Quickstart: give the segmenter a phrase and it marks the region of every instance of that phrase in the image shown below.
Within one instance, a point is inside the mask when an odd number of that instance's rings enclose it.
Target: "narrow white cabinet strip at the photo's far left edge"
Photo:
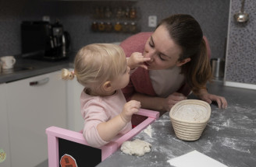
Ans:
[[[0,150],[5,154],[5,161],[0,160],[0,166],[11,166],[9,152],[9,132],[8,132],[8,116],[7,102],[5,99],[5,83],[0,84]]]

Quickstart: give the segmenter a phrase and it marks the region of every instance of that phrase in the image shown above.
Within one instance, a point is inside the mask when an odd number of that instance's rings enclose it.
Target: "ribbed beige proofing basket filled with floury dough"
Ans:
[[[172,106],[169,112],[176,137],[196,141],[201,137],[211,116],[211,106],[198,99],[186,99]]]

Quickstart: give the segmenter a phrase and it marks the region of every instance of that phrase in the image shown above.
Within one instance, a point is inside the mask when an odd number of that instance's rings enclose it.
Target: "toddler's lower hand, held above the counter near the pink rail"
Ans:
[[[137,113],[140,110],[140,102],[136,100],[130,100],[123,106],[123,111],[120,113],[120,117],[126,123],[130,122],[133,113]]]

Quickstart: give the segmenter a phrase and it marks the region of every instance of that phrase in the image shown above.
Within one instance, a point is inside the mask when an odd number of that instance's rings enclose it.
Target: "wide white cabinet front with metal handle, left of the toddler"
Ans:
[[[66,82],[60,71],[6,84],[12,167],[34,167],[48,158],[50,126],[67,126]]]

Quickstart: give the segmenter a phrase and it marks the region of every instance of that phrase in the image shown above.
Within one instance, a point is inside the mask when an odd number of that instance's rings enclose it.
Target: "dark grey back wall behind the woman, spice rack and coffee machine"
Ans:
[[[251,0],[253,1],[253,0]],[[22,20],[38,20],[42,16],[61,19],[69,31],[74,51],[88,43],[116,42],[131,34],[92,33],[91,9],[95,5],[135,5],[139,12],[141,31],[153,31],[148,27],[148,16],[158,21],[174,13],[187,13],[201,24],[204,35],[212,48],[212,57],[223,57],[228,29],[229,0],[138,0],[133,2],[88,1],[35,1],[0,0],[0,57],[20,54],[20,23]]]

